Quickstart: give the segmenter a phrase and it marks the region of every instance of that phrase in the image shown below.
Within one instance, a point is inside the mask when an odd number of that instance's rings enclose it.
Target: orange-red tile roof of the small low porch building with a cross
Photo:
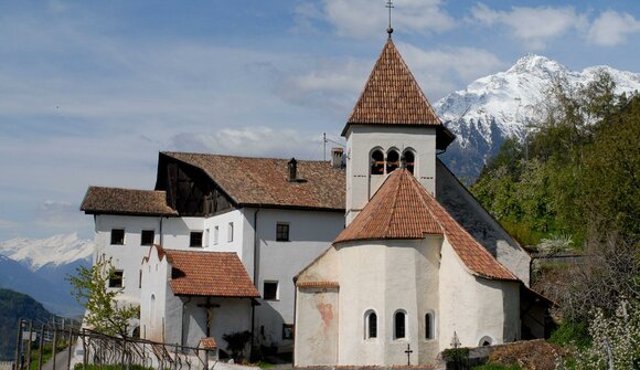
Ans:
[[[233,252],[164,250],[171,264],[171,289],[175,295],[257,298],[244,265]]]

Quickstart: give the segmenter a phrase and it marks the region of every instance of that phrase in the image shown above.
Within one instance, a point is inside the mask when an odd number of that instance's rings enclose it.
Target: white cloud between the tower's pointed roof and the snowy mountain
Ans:
[[[426,51],[405,43],[399,43],[397,47],[431,103],[504,66],[495,55],[482,49]]]

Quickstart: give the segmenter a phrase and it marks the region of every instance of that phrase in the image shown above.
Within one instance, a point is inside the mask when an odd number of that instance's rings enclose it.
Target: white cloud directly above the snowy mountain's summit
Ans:
[[[493,10],[483,3],[471,9],[471,21],[484,25],[506,25],[527,47],[542,50],[546,43],[570,30],[585,30],[586,14],[572,7],[512,7],[510,11]]]

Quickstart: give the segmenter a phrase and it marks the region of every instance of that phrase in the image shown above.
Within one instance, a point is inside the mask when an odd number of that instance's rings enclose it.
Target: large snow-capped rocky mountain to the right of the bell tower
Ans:
[[[529,54],[508,71],[478,78],[445,96],[434,108],[457,139],[442,159],[458,176],[476,178],[505,138],[524,138],[554,78],[565,77],[574,87],[586,86],[600,71],[611,75],[616,93],[640,91],[638,73],[609,66],[575,72],[545,56]]]

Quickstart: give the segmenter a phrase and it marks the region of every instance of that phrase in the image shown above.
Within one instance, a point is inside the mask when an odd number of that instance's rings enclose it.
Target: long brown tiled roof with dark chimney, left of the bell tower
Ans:
[[[161,155],[203,170],[237,204],[344,211],[344,169],[329,161],[296,160],[297,181],[289,181],[289,159],[190,152]]]

